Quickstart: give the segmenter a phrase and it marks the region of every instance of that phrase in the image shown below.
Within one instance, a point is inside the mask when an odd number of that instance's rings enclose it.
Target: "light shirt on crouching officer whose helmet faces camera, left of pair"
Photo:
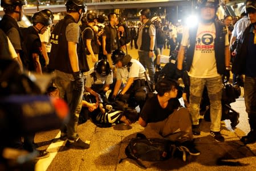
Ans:
[[[88,88],[91,88],[92,85],[94,84],[112,84],[113,83],[113,72],[111,72],[110,74],[108,74],[107,76],[100,76],[99,74],[97,74],[96,72],[96,80],[94,80],[94,77],[91,76],[91,74],[95,72],[94,68],[91,68],[91,70],[88,72],[88,76],[86,79],[86,84],[85,86]]]

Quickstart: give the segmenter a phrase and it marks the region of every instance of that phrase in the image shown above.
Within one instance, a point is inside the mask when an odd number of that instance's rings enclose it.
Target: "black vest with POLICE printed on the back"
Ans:
[[[48,65],[48,68],[52,70],[59,70],[69,74],[73,72],[68,56],[68,42],[66,39],[66,28],[70,23],[75,23],[75,19],[71,15],[66,15],[55,25],[50,37],[52,47]],[[80,71],[89,71],[86,59],[86,49],[83,46],[81,36],[79,36],[79,43],[76,51],[78,53]]]

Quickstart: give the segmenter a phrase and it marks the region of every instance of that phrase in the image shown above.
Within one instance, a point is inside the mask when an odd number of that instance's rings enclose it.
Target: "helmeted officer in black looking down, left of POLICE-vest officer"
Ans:
[[[37,12],[32,16],[32,26],[22,28],[26,52],[29,58],[29,71],[36,71],[42,74],[42,64],[45,60],[42,55],[42,44],[39,34],[43,34],[51,24],[51,18],[42,12]]]

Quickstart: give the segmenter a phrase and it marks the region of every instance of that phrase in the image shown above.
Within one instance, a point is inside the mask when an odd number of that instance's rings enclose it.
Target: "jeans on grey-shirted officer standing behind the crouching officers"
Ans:
[[[143,67],[146,69],[148,68],[149,78],[151,83],[155,80],[155,67],[153,62],[153,57],[149,58],[149,52],[146,51],[139,51],[139,60]]]

